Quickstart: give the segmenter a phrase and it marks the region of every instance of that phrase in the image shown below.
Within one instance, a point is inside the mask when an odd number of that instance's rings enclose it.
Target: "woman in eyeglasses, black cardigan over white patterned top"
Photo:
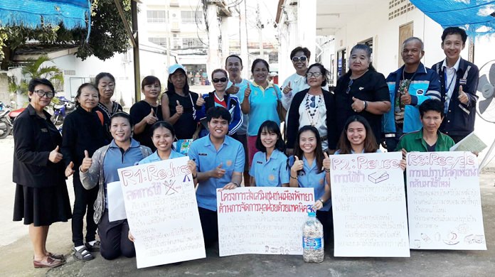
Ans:
[[[303,126],[314,126],[321,137],[321,148],[334,150],[338,135],[335,128],[334,94],[322,89],[328,82],[328,70],[319,64],[309,66],[306,73],[309,89],[297,92],[292,99],[287,119],[287,147],[294,148],[296,136]],[[289,153],[292,153],[289,149]]]

